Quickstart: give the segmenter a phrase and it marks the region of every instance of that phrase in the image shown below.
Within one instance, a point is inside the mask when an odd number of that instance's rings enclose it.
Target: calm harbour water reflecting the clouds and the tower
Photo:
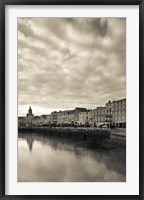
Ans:
[[[84,141],[19,133],[18,181],[124,182],[125,149],[88,149]]]

